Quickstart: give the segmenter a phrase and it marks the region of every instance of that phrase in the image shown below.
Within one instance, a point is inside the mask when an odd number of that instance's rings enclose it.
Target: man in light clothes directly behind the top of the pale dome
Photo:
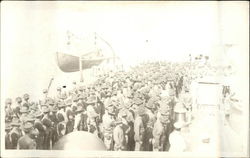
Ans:
[[[88,115],[85,109],[83,108],[82,103],[77,103],[74,131],[88,131],[87,118]]]

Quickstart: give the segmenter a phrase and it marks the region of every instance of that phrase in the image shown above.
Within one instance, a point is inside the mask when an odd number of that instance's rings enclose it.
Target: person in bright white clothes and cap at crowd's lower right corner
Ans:
[[[169,135],[170,152],[184,152],[187,148],[184,137],[181,134],[181,128],[184,126],[183,122],[174,123],[174,131]]]

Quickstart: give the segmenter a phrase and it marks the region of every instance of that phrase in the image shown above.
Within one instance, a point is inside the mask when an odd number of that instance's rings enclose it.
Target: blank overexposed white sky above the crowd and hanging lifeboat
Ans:
[[[248,2],[2,2],[1,100],[26,92],[37,99],[52,77],[52,89],[78,80],[56,63],[56,52],[86,51],[86,41],[67,47],[67,31],[82,39],[98,33],[125,65],[200,53],[220,59],[216,46],[233,43],[232,62],[246,66],[248,11]]]

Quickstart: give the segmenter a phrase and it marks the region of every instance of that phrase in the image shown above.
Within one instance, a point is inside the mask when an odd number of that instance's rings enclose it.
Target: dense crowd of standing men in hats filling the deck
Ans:
[[[189,89],[200,75],[191,71],[189,63],[148,62],[91,85],[58,87],[55,96],[44,89],[38,102],[8,98],[5,148],[50,150],[64,135],[87,131],[110,151],[185,151],[180,130],[192,120]]]

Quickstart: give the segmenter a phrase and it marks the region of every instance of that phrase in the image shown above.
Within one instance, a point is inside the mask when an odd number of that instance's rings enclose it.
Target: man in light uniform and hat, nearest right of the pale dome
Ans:
[[[115,128],[113,132],[115,151],[126,150],[126,139],[122,126],[123,126],[122,119],[118,118],[117,121],[115,122]]]

